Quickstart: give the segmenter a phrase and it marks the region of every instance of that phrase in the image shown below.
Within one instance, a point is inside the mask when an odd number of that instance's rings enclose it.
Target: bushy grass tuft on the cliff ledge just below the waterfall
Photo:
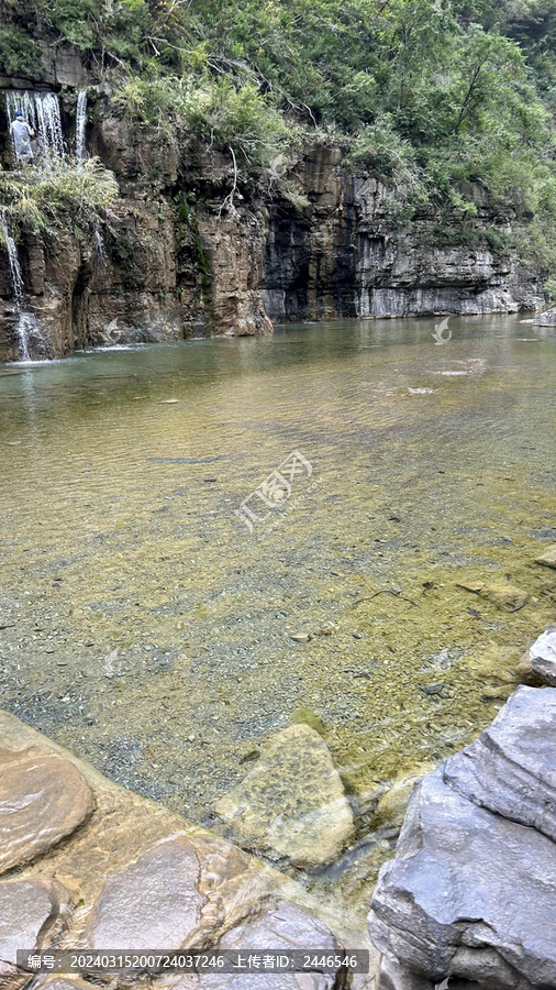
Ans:
[[[48,168],[0,172],[0,206],[15,237],[54,233],[70,221],[97,229],[118,199],[114,175],[98,158],[82,165],[54,162]]]

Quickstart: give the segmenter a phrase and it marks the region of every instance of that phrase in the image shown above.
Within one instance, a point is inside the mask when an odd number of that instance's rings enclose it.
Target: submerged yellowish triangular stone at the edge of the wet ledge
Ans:
[[[354,828],[330,751],[307,725],[278,733],[256,767],[215,809],[240,842],[271,849],[305,869],[336,859]]]

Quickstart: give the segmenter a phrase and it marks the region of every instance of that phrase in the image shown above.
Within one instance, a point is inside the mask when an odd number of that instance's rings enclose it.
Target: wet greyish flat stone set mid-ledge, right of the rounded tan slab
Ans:
[[[185,836],[158,843],[107,878],[87,923],[92,949],[178,949],[191,945],[205,899],[199,859]]]

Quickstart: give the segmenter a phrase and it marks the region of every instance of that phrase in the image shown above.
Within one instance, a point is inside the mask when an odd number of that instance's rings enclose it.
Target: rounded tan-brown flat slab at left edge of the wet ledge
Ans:
[[[91,810],[90,788],[68,760],[41,747],[0,750],[0,873],[70,835]]]

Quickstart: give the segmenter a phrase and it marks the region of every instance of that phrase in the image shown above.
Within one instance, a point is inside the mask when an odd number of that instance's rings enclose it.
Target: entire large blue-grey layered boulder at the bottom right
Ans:
[[[549,990],[555,920],[556,689],[520,686],[413,793],[368,917],[379,986]]]

